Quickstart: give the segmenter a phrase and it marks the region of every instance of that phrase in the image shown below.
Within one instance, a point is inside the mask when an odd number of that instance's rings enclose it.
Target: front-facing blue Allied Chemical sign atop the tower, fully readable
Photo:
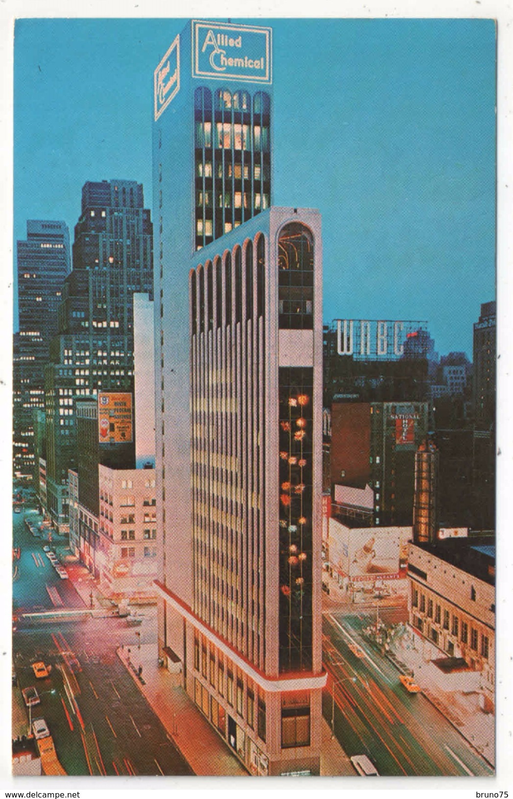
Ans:
[[[193,21],[193,78],[271,83],[271,28]]]

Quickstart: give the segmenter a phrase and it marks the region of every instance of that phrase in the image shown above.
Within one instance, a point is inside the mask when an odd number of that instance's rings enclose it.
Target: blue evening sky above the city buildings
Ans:
[[[494,23],[258,22],[273,29],[274,204],[320,209],[324,320],[427,320],[439,352],[471,357],[495,296]],[[151,208],[153,70],[184,24],[18,21],[14,240],[29,218],[73,240],[87,180],[140,181]]]

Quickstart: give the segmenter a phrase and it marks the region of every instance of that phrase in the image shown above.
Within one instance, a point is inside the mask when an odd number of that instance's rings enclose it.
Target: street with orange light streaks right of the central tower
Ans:
[[[331,725],[334,690],[334,730],[348,756],[367,754],[384,776],[493,774],[428,699],[408,694],[396,667],[370,646],[362,630],[374,622],[371,610],[323,617],[323,660],[330,673],[323,713]]]

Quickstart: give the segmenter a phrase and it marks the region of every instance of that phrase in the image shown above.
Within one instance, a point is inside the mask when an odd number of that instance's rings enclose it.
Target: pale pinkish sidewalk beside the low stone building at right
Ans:
[[[431,654],[424,654],[423,639],[408,628],[392,638],[390,654],[390,659],[400,671],[413,673],[424,696],[447,721],[451,722],[479,754],[491,765],[495,765],[495,715],[481,710],[479,692],[442,690],[433,681],[431,671],[436,667],[430,662]]]

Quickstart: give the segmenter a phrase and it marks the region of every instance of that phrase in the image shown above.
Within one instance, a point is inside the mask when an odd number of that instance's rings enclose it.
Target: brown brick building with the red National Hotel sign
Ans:
[[[332,404],[332,513],[343,523],[411,525],[415,453],[428,403]]]

